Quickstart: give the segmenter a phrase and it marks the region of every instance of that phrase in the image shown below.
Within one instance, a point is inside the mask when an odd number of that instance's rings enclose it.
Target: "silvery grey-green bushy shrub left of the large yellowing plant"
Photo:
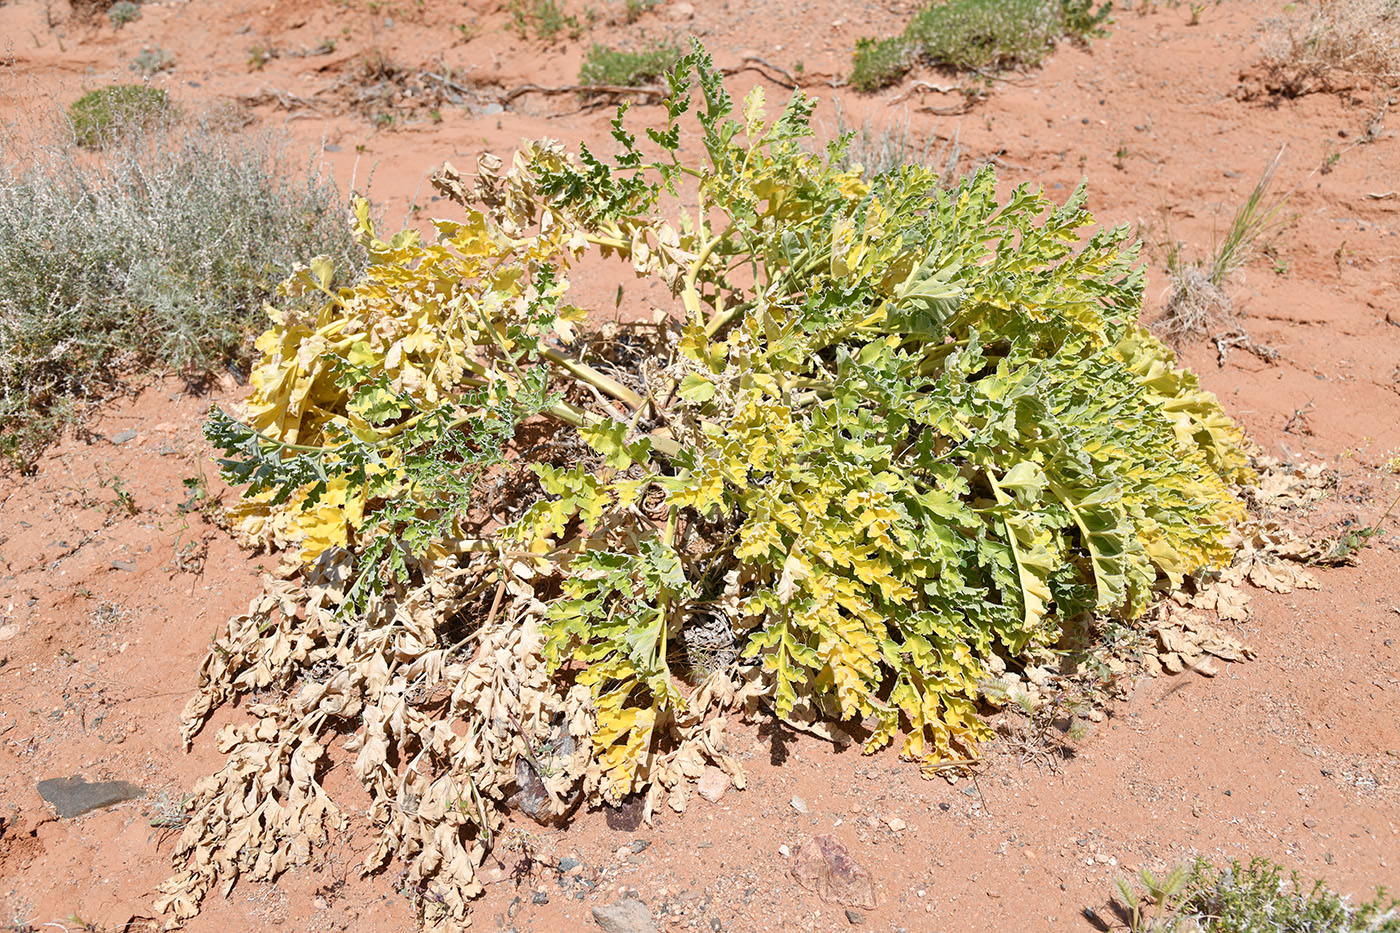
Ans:
[[[363,255],[333,184],[273,139],[97,112],[95,161],[6,132],[25,157],[0,165],[0,437],[21,465],[136,367],[239,359],[294,258],[329,251],[353,275]]]

